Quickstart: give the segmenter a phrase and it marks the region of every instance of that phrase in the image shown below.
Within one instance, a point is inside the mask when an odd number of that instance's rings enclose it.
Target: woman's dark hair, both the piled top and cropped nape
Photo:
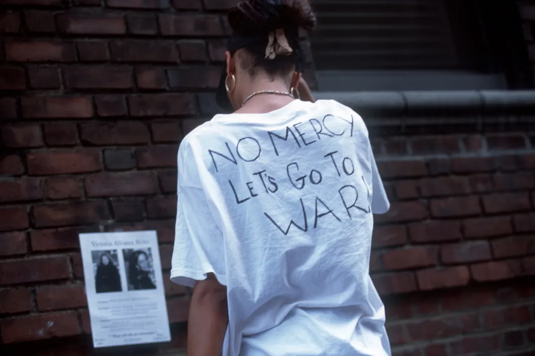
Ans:
[[[308,0],[248,0],[240,2],[228,12],[228,22],[235,33],[265,34],[278,28],[301,27],[306,30],[316,26],[316,14]],[[289,38],[288,38],[289,39]],[[290,42],[295,49],[295,44]],[[251,76],[258,68],[264,69],[273,78],[276,74],[286,75],[295,68],[297,51],[289,56],[265,58],[265,45],[249,45],[241,57],[242,68]]]

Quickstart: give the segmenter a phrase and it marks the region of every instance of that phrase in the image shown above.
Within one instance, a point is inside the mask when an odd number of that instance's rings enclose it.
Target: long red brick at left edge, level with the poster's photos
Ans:
[[[68,260],[65,256],[0,262],[0,285],[63,280],[68,277]]]

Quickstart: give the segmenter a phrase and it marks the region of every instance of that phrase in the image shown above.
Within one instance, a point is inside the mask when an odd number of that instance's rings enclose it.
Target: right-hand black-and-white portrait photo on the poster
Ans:
[[[150,247],[124,249],[124,266],[128,290],[156,289],[154,261]]]

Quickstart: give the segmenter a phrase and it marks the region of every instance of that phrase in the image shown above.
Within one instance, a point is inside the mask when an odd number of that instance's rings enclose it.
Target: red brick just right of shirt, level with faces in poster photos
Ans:
[[[438,247],[408,247],[386,252],[385,269],[408,269],[438,264]]]

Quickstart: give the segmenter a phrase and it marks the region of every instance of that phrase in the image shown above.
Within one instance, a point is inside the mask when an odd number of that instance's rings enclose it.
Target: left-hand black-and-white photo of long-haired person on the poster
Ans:
[[[95,276],[95,292],[122,291],[117,250],[91,251],[91,257],[93,259],[93,275]]]

